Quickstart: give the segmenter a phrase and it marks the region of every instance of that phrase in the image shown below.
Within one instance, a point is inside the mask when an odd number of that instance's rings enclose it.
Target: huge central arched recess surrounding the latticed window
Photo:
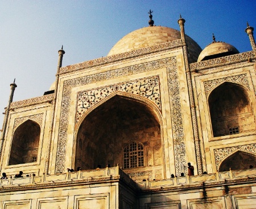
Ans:
[[[131,142],[144,147],[144,166],[163,164],[159,117],[142,101],[115,95],[81,122],[76,138],[75,167],[123,166],[123,149]]]

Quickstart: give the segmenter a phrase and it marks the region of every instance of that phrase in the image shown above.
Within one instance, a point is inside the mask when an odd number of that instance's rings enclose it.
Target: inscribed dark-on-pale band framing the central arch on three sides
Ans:
[[[78,65],[78,64],[77,64]],[[181,105],[179,97],[179,82],[177,79],[177,61],[176,57],[159,59],[156,61],[141,63],[133,66],[122,67],[119,69],[99,72],[97,74],[84,76],[66,80],[63,87],[63,98],[61,102],[60,113],[60,128],[57,143],[57,156],[55,172],[64,172],[65,155],[67,150],[67,133],[68,133],[68,115],[71,104],[71,89],[77,86],[84,86],[90,83],[100,82],[102,80],[109,80],[119,78],[140,72],[151,71],[166,67],[168,74],[169,93],[172,100],[171,115],[172,115],[172,129],[175,140],[175,165],[176,173],[181,173],[187,165],[185,160],[185,143],[184,143],[184,129],[181,118]]]

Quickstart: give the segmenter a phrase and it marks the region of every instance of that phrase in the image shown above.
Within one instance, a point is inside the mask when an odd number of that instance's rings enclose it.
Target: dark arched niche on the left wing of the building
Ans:
[[[40,126],[28,120],[14,132],[9,165],[32,163],[37,161],[40,139]]]

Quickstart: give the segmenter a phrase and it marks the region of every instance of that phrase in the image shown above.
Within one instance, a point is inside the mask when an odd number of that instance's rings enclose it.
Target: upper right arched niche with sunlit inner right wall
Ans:
[[[250,96],[239,84],[222,83],[210,93],[208,104],[213,137],[255,129]]]

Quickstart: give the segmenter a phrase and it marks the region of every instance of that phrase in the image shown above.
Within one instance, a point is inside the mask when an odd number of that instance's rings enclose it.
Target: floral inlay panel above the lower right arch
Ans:
[[[215,157],[215,162],[216,162],[216,168],[218,169],[218,166],[220,165],[221,161],[226,156],[230,155],[230,153],[233,153],[237,150],[252,152],[252,153],[256,154],[256,144],[245,144],[245,145],[241,145],[241,146],[214,149],[214,157]]]

